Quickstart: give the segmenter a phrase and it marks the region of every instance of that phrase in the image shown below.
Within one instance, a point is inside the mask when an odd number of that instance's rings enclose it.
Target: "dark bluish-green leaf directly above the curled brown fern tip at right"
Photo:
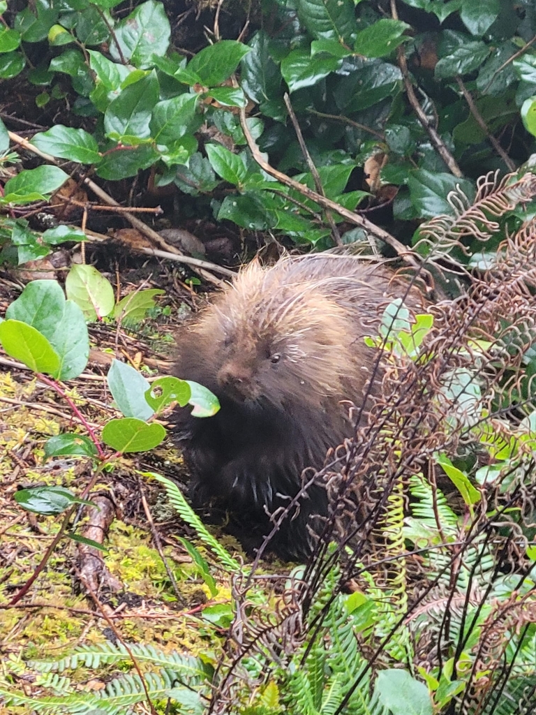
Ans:
[[[426,169],[412,172],[407,184],[412,204],[421,217],[452,215],[454,209],[447,201],[447,195],[457,186],[462,188],[470,200],[475,195],[475,188],[469,180],[442,172],[428,172]]]

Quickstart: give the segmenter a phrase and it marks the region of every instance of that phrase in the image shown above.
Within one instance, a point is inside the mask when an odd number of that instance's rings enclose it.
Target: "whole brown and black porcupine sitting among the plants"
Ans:
[[[376,334],[382,305],[405,294],[391,278],[351,256],[254,262],[179,335],[175,374],[221,404],[212,418],[177,415],[192,503],[234,515],[247,546],[272,530],[269,513],[297,495],[303,470],[322,468],[354,433],[377,357],[364,336]],[[309,487],[294,512],[270,543],[291,560],[310,553],[322,523],[314,516],[327,516],[323,486]]]

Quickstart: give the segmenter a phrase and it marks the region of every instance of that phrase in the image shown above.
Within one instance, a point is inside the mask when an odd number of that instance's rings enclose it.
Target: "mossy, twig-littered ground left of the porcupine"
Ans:
[[[117,357],[149,379],[166,374],[172,366],[174,332],[181,317],[205,300],[195,295],[178,270],[154,260],[142,269],[108,277],[121,295],[140,280],[165,294],[136,333],[106,319],[89,326],[89,364],[65,388],[97,431],[118,415],[106,384],[111,360]],[[20,290],[14,274],[4,273],[0,315],[5,315]],[[174,478],[181,487],[187,485],[182,458],[171,438],[149,453],[121,457],[113,469],[99,476],[90,498],[100,511],[94,510],[88,521],[87,511],[81,508],[79,532],[100,541],[104,551],[63,538],[53,553],[44,556],[63,516],[24,511],[14,501],[14,493],[39,485],[61,485],[81,493],[91,478],[91,459],[45,459],[44,455],[48,438],[79,430],[76,415],[54,390],[24,365],[0,353],[0,652],[4,675],[14,669],[20,676],[21,664],[29,659],[58,659],[76,646],[106,640],[199,654],[208,645],[203,623],[212,623],[222,635],[229,624],[229,574],[199,546],[217,580],[214,598],[214,590],[179,541],[179,537],[190,538],[192,530],[180,521],[162,487],[150,476],[159,473]],[[231,537],[224,536],[222,543],[243,558]],[[209,647],[214,646],[211,638]],[[104,676],[97,678],[92,687],[100,689],[104,682]],[[29,694],[34,689],[37,693],[39,682],[29,678],[25,688]],[[9,713],[15,711],[19,710]],[[7,712],[0,706],[2,715]]]

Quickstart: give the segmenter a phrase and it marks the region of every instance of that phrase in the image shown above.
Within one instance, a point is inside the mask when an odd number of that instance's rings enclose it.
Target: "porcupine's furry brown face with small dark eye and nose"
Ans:
[[[269,275],[265,273],[264,275]],[[205,326],[217,336],[217,390],[250,410],[314,407],[349,370],[342,310],[307,285],[266,286],[259,300],[227,293]]]

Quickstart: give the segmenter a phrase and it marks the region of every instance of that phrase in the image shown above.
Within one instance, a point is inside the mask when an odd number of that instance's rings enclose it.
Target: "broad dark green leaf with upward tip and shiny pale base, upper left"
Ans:
[[[158,79],[154,70],[147,77],[129,84],[104,112],[106,136],[118,142],[124,139],[125,144],[132,143],[131,137],[150,137],[149,122],[158,102],[158,94]]]

